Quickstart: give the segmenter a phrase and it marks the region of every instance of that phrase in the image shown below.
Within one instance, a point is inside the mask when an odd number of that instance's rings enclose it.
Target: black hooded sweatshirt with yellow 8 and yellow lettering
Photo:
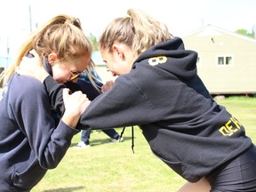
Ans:
[[[150,47],[129,74],[92,101],[79,129],[139,125],[153,153],[184,179],[196,182],[252,145],[244,126],[218,105],[196,74],[197,53],[179,37]],[[62,105],[49,76],[52,105]]]

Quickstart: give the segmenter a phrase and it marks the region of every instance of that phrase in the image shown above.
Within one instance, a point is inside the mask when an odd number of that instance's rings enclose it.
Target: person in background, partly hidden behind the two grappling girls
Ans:
[[[86,72],[81,74],[78,77],[77,82],[67,82],[65,85],[71,90],[71,92],[82,91],[89,100],[94,100],[96,97],[100,95],[100,88],[103,85],[101,83],[101,78],[98,73],[96,73],[95,69],[91,71],[92,76],[88,76]],[[91,79],[89,79],[91,77]],[[82,130],[81,141],[77,143],[75,148],[88,148],[90,147],[90,135],[92,130]],[[106,133],[108,137],[111,139],[109,142],[121,142],[124,140],[123,137],[119,135],[118,132],[114,128],[112,129],[104,129],[102,132]]]

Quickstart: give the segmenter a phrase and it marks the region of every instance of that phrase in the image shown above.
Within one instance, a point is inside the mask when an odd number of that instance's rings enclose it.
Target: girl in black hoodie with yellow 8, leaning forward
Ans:
[[[85,109],[79,128],[139,125],[152,152],[188,180],[180,192],[256,191],[256,147],[197,75],[197,52],[164,23],[129,9],[103,31],[100,53],[118,77]],[[61,105],[62,85],[48,76],[41,82]]]

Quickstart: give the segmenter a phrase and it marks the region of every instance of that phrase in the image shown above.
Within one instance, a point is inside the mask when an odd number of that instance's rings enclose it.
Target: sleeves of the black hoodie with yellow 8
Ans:
[[[54,83],[51,76],[45,79],[44,85],[52,100],[52,106],[59,108],[63,102],[58,95],[62,95],[61,88],[64,86]],[[85,109],[76,128],[108,129],[148,124],[156,122],[156,118],[152,103],[141,92],[140,87],[133,84],[128,76],[119,76],[111,90],[100,94]]]

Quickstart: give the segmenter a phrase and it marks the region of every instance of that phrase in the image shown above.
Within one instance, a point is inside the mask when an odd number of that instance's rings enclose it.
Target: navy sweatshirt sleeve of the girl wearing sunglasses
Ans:
[[[78,131],[61,120],[55,127],[44,86],[32,78],[30,81],[25,78],[20,76],[19,81],[20,85],[26,84],[26,89],[12,89],[12,93],[17,96],[12,98],[9,115],[17,121],[28,138],[29,146],[39,164],[46,169],[52,169],[60,163]]]

